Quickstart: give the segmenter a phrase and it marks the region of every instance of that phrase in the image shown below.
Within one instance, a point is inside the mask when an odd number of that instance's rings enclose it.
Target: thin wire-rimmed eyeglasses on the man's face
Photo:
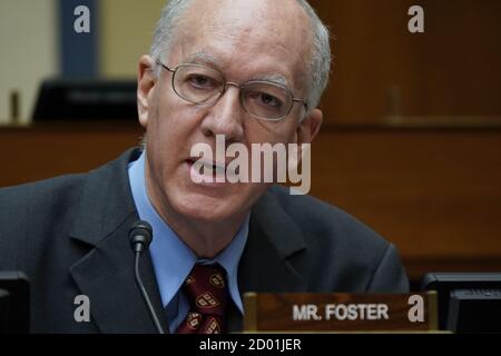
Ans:
[[[293,109],[294,102],[301,102],[305,110],[307,103],[294,98],[291,90],[281,85],[249,80],[243,85],[226,81],[218,70],[191,63],[184,63],[170,69],[157,61],[164,69],[173,73],[173,89],[186,101],[197,105],[210,105],[224,96],[229,86],[240,89],[240,105],[250,116],[269,121],[284,119]]]

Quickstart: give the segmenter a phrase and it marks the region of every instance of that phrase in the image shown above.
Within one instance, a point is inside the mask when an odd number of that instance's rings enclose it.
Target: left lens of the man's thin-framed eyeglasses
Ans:
[[[223,90],[223,76],[214,69],[183,65],[174,76],[174,90],[184,99],[204,103],[218,98]]]

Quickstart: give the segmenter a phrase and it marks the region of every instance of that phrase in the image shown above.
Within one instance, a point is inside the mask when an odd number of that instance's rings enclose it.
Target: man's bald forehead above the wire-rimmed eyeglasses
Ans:
[[[287,18],[287,9],[298,7],[297,1],[276,1],[287,8],[279,13],[267,11],[273,2],[268,0],[237,0],[235,6],[215,0],[202,4],[203,9],[194,4],[181,22],[173,65],[193,61],[226,69],[236,60],[242,68],[254,67],[258,76],[243,79],[272,80],[293,89],[303,81],[301,71],[311,56],[310,20],[305,12],[303,19]]]

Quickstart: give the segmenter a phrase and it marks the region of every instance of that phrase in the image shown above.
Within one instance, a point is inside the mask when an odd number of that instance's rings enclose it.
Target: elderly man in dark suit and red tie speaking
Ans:
[[[0,192],[0,269],[30,277],[31,329],[156,330],[134,279],[139,219],[154,236],[139,274],[166,332],[238,330],[245,291],[407,290],[395,248],[347,214],[266,181],[193,179],[193,147],[218,137],[310,144],[330,61],[306,1],[171,0],[139,61],[145,149]]]

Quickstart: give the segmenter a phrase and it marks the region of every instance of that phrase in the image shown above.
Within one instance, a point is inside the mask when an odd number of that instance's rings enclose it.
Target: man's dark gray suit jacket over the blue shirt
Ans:
[[[128,241],[138,215],[127,165],[138,154],[89,174],[0,189],[0,270],[29,276],[32,332],[155,333]],[[164,315],[148,255],[141,275]],[[252,210],[238,284],[242,293],[409,289],[393,245],[342,210],[281,187]],[[90,323],[75,320],[78,295],[90,298]],[[242,327],[234,306],[227,322]]]

